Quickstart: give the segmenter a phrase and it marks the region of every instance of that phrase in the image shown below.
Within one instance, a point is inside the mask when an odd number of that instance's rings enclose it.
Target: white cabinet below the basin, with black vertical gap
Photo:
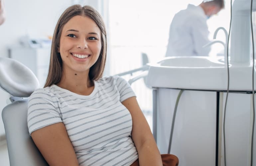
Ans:
[[[168,152],[174,109],[180,90],[156,88],[155,91],[156,138],[160,153],[164,154]],[[171,146],[171,154],[179,158],[181,165],[224,165],[223,118],[226,94],[225,91],[207,90],[184,90],[182,93]],[[250,165],[252,115],[252,92],[229,91],[225,116],[227,165]],[[255,147],[255,136],[253,142]],[[255,148],[253,159],[255,165]]]

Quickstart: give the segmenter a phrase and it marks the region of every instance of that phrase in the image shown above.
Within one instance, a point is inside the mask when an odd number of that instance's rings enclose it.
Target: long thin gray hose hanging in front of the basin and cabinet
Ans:
[[[232,0],[230,0],[230,23],[229,23],[229,32],[227,38],[227,95],[224,107],[224,117],[223,117],[223,144],[224,144],[224,166],[227,166],[226,162],[226,139],[225,139],[225,122],[226,122],[226,108],[227,108],[227,97],[229,93],[229,63],[228,63],[228,44],[231,30],[231,22],[232,22]]]

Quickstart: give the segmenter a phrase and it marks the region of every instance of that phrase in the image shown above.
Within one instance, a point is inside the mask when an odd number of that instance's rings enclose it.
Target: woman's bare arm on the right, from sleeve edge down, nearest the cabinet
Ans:
[[[132,116],[132,139],[139,155],[140,166],[162,166],[162,159],[155,139],[136,97],[122,102]]]

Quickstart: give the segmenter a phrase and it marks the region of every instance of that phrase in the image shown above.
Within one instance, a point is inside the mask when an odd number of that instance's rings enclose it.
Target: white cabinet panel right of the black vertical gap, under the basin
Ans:
[[[226,93],[223,95],[223,110]],[[226,110],[225,137],[226,137],[226,164],[232,166],[249,166],[249,124],[251,94],[229,93]],[[224,112],[223,112],[224,114]],[[255,131],[256,132],[256,131]],[[254,136],[254,142],[256,141]],[[256,142],[255,142],[256,143]],[[254,146],[255,147],[255,146]],[[249,152],[249,153],[248,153]],[[256,151],[253,158],[256,160]],[[224,165],[224,146],[222,137],[221,165]],[[250,160],[250,159],[249,159]],[[255,163],[255,162],[254,162]],[[255,165],[255,164],[253,164]]]

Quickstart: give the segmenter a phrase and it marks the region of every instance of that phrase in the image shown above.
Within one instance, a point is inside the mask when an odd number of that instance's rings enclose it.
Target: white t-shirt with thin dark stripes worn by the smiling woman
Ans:
[[[57,85],[37,89],[28,103],[29,132],[63,122],[79,165],[131,165],[138,153],[132,117],[121,102],[133,96],[130,85],[117,76],[94,81],[89,96]]]

